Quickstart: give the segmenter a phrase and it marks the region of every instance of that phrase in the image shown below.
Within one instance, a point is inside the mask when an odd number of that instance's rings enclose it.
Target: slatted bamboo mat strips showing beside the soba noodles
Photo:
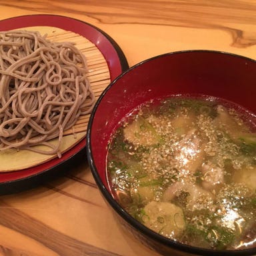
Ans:
[[[39,29],[37,28],[37,30]],[[103,90],[110,83],[109,68],[101,51],[85,37],[62,29],[54,29],[53,32],[47,36],[47,39],[56,42],[69,41],[75,43],[75,47],[85,55],[88,68],[87,78],[95,95],[95,100],[97,101]],[[87,131],[89,117],[89,114],[81,115],[74,127],[65,131],[64,135]]]

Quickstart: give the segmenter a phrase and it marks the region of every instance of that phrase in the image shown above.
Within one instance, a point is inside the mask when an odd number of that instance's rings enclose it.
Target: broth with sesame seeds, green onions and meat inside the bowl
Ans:
[[[125,210],[208,249],[256,246],[256,134],[221,101],[173,97],[123,122],[107,172]]]

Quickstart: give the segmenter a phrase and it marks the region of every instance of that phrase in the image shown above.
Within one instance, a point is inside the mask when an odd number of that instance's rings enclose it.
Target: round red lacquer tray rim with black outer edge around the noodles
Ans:
[[[111,81],[128,69],[127,60],[119,45],[105,32],[89,23],[59,15],[25,15],[0,21],[0,31],[36,26],[65,29],[94,43],[107,62]],[[35,185],[49,179],[52,175],[59,173],[60,170],[69,169],[69,165],[73,161],[77,162],[77,158],[85,160],[85,146],[86,142],[83,139],[69,151],[63,153],[61,159],[55,158],[36,167],[20,171],[0,173],[0,194],[15,193],[35,187]]]

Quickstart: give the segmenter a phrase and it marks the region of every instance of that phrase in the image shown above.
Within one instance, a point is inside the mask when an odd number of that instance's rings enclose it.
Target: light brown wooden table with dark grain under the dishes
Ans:
[[[185,49],[256,59],[256,1],[0,1],[0,17],[58,14],[91,23],[129,65]],[[127,236],[103,201],[86,161],[40,187],[0,196],[0,255],[158,254]]]

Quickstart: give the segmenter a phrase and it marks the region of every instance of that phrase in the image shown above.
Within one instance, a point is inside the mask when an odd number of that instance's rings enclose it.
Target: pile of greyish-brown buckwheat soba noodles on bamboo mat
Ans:
[[[0,32],[0,151],[60,157],[63,131],[95,101],[86,72],[85,57],[72,43],[53,43],[38,32]]]

